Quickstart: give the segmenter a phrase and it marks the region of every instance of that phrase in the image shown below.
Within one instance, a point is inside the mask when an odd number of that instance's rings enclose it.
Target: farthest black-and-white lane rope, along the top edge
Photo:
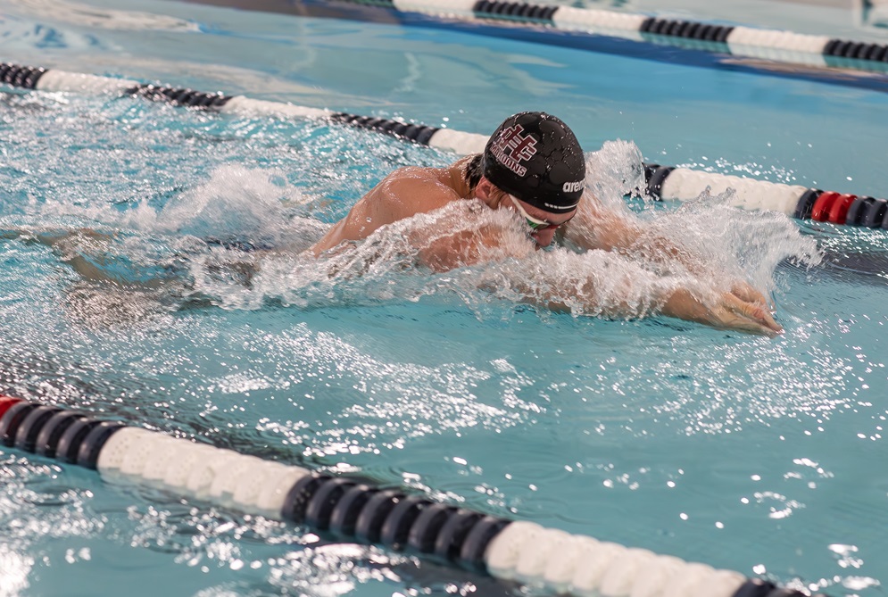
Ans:
[[[807,66],[888,72],[888,45],[838,37],[759,29],[702,21],[660,19],[645,14],[567,5],[492,2],[491,0],[300,0],[311,13],[321,7],[359,6],[353,16],[366,19],[369,10],[419,13],[432,19],[502,22],[510,28],[544,27],[574,35],[592,34],[646,41],[717,54],[730,54]],[[319,12],[328,15],[328,12]]]

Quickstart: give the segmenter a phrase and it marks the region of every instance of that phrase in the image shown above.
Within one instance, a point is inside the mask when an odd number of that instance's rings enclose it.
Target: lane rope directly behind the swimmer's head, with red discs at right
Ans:
[[[154,101],[214,112],[327,120],[461,155],[482,152],[488,138],[477,133],[256,100],[244,95],[207,94],[194,89],[145,85],[130,79],[113,79],[8,63],[0,63],[0,82],[38,91],[139,95]],[[711,195],[720,195],[731,189],[733,195],[728,202],[734,207],[780,211],[800,220],[812,219],[838,225],[888,228],[888,209],[884,199],[829,191],[826,192],[827,195],[831,193],[841,195],[842,202],[836,205],[835,209],[821,209],[826,203],[826,199],[821,199],[825,192],[816,188],[649,163],[644,164],[644,173],[646,190],[656,199],[689,201],[707,192]],[[820,203],[815,209],[818,200]],[[829,207],[833,207],[832,200]]]

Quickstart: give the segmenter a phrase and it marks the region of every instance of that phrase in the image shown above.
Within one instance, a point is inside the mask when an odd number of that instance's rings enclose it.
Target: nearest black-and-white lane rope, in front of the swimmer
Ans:
[[[160,486],[183,497],[577,597],[805,594],[732,570],[496,518],[365,479],[320,475],[5,395],[0,395],[0,443],[96,469],[106,480]]]

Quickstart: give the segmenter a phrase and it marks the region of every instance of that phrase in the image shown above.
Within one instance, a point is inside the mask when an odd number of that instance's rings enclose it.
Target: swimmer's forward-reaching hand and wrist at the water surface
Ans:
[[[783,331],[763,300],[744,301],[734,292],[720,294],[715,304],[707,305],[685,289],[676,290],[663,305],[662,312],[713,328],[735,329],[763,336],[773,337]]]

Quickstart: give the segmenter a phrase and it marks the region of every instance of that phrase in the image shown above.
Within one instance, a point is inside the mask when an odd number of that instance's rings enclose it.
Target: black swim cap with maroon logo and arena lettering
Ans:
[[[484,148],[484,176],[543,211],[577,207],[585,187],[585,157],[572,130],[545,112],[507,118]]]

